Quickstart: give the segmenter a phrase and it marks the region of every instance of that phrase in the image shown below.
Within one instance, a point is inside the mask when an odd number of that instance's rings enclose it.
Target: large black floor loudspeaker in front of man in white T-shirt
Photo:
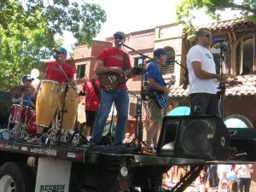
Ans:
[[[163,156],[226,160],[230,133],[217,116],[166,116],[157,153]]]

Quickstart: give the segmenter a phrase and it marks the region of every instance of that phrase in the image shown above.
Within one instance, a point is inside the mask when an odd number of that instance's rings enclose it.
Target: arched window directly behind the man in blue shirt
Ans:
[[[164,49],[166,50],[168,55],[165,63],[166,67],[162,67],[162,74],[173,74],[175,67],[175,51],[172,47],[165,47]]]

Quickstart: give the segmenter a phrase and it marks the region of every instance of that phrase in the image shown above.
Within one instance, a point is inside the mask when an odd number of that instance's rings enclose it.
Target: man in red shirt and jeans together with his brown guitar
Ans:
[[[91,145],[101,141],[103,128],[108,119],[107,113],[110,111],[113,102],[116,103],[116,111],[119,114],[113,144],[123,143],[125,122],[127,121],[129,107],[126,81],[135,76],[135,74],[131,74],[130,56],[122,50],[122,44],[124,43],[125,33],[115,32],[113,34],[113,47],[103,49],[100,55],[97,56],[94,72],[98,75],[102,87],[101,101],[104,101],[104,105],[100,105],[96,114],[92,137],[90,139]],[[119,81],[120,78],[125,79],[124,81]]]

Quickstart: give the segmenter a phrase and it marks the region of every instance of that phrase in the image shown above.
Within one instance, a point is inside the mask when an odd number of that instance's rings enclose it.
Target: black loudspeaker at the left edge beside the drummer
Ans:
[[[12,96],[9,92],[0,91],[0,125],[7,125]]]

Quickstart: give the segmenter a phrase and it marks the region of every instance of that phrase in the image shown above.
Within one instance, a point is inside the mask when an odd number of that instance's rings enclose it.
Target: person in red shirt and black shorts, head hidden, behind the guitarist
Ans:
[[[86,123],[82,134],[84,137],[91,136],[96,113],[100,104],[101,87],[98,79],[89,79],[84,83],[83,87],[85,96],[85,115]]]

